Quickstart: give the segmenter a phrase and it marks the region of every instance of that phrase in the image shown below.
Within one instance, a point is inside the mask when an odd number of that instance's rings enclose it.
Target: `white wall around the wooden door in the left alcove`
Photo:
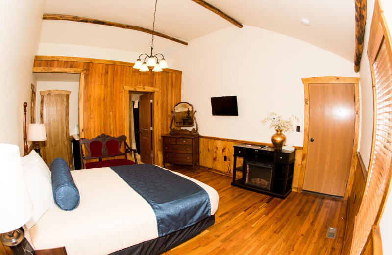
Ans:
[[[79,82],[62,82],[62,81],[38,81],[37,82],[37,97],[36,97],[36,109],[35,116],[36,122],[41,123],[41,95],[40,91],[44,90],[68,90],[70,94],[70,135],[76,134],[76,125],[79,124]]]

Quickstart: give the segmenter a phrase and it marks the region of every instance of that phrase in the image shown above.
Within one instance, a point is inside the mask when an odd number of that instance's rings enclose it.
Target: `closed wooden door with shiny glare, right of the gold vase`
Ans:
[[[309,84],[309,136],[303,190],[344,196],[354,129],[354,84]]]

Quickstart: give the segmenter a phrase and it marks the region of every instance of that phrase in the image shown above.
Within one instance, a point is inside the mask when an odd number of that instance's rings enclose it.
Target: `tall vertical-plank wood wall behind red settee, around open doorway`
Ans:
[[[101,133],[126,135],[129,143],[129,91],[124,86],[146,86],[159,89],[153,95],[154,163],[163,165],[161,134],[169,132],[171,111],[181,100],[181,76],[178,70],[140,72],[133,63],[111,60],[36,56],[35,71],[79,69],[85,72],[79,88],[79,129],[81,138]],[[65,72],[64,71],[64,72]],[[83,83],[83,84],[82,84]]]

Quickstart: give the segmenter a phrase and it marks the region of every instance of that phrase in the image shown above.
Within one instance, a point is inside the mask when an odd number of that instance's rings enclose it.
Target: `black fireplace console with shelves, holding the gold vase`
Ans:
[[[243,165],[237,165],[237,157],[243,158]],[[263,193],[277,198],[286,198],[293,182],[295,151],[273,147],[260,148],[258,145],[234,145],[234,171],[232,186]],[[242,178],[236,179],[236,172]]]

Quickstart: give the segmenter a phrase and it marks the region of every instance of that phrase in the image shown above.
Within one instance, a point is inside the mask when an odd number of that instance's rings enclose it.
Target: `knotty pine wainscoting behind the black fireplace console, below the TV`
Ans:
[[[199,165],[213,172],[217,172],[227,176],[233,176],[233,145],[242,143],[272,146],[272,144],[270,143],[257,143],[235,139],[201,136]],[[224,161],[224,156],[226,156],[227,158],[226,161]],[[293,191],[298,190],[301,161],[302,147],[295,147],[295,165],[292,184]],[[241,166],[242,164],[242,159],[240,157],[237,157],[236,167]],[[236,177],[241,178],[241,176],[241,172],[236,173]]]

